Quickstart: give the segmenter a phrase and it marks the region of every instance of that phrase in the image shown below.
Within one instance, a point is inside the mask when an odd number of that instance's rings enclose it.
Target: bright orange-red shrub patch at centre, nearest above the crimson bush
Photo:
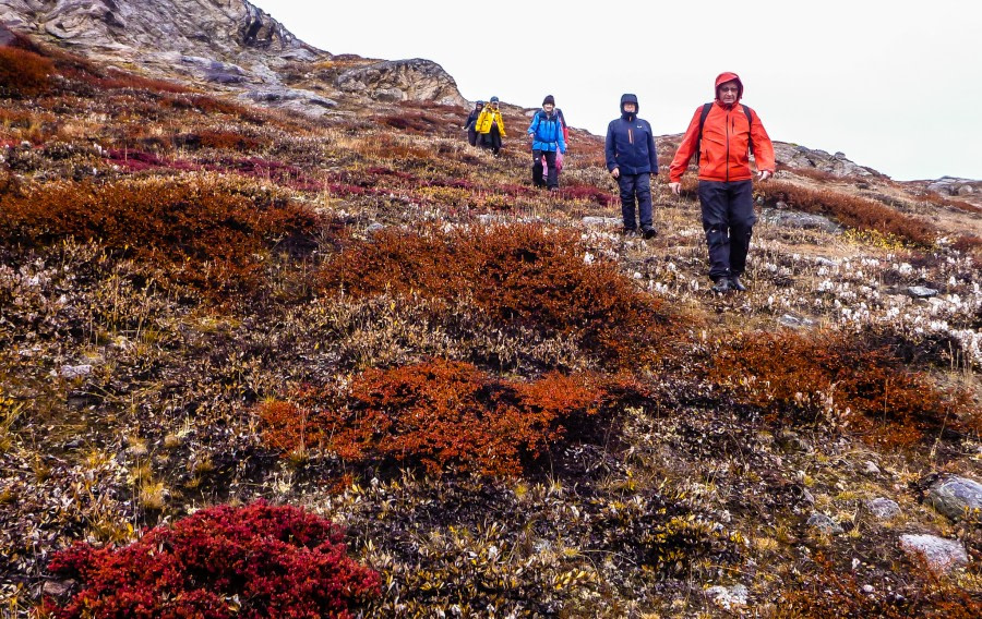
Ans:
[[[606,410],[623,388],[595,375],[496,379],[468,363],[438,360],[370,369],[345,393],[308,392],[300,404],[259,408],[265,440],[282,450],[323,447],[343,459],[514,475]]]

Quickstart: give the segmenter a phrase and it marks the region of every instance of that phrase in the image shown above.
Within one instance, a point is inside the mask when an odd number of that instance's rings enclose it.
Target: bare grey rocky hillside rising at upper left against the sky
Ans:
[[[319,80],[313,68],[335,57],[247,0],[0,0],[0,23],[96,60],[311,116],[327,113],[342,96],[467,105],[442,66],[418,58],[337,57],[356,62],[331,81]]]

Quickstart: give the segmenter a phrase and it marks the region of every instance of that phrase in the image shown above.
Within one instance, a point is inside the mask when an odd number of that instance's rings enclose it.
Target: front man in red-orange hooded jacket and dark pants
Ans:
[[[774,175],[774,145],[757,113],[742,105],[743,83],[735,73],[716,78],[716,100],[699,106],[669,168],[669,186],[682,191],[682,174],[698,154],[699,204],[703,230],[709,244],[712,291],[743,292],[740,276],[746,270],[746,253],[757,216],[754,215],[752,150],[757,178]]]

